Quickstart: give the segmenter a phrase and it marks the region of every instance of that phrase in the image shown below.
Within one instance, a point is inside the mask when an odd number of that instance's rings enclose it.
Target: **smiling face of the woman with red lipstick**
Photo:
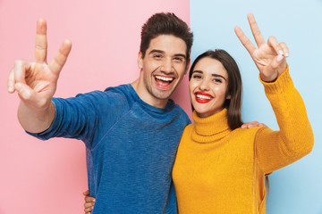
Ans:
[[[191,103],[200,118],[207,118],[224,109],[228,74],[221,62],[205,57],[197,62],[189,82]]]

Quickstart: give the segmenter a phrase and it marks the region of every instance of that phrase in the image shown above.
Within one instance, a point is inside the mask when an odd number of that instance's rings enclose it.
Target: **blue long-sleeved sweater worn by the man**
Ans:
[[[92,214],[176,213],[172,169],[185,112],[144,103],[122,85],[73,98],[53,98],[55,119],[33,136],[77,138],[86,145]]]

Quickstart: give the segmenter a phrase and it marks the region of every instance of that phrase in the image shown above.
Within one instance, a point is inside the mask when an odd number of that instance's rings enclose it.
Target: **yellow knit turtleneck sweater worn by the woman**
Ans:
[[[313,132],[288,69],[262,83],[280,131],[232,131],[226,110],[208,118],[193,112],[195,124],[184,129],[173,169],[179,214],[263,214],[265,176],[312,150]]]

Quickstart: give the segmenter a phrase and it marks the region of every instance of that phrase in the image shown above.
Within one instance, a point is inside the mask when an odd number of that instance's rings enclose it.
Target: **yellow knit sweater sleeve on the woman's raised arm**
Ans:
[[[265,174],[298,161],[313,148],[313,131],[301,95],[293,86],[289,67],[273,83],[260,80],[275,112],[279,131],[258,130],[256,158]]]

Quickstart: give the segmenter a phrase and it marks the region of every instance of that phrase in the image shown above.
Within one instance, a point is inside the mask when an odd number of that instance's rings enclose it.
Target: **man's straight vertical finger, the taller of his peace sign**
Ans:
[[[44,19],[37,21],[35,61],[47,62],[47,23]]]

